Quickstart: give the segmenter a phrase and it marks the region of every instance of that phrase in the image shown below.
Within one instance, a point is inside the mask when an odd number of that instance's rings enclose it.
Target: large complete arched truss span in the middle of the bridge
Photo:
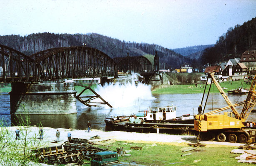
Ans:
[[[115,62],[105,53],[85,46],[66,47],[36,56],[41,79],[116,76]]]

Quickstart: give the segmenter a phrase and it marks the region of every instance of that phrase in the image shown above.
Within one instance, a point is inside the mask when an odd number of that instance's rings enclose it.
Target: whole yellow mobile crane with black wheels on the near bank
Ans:
[[[195,115],[194,128],[196,131],[198,131],[198,139],[207,139],[209,141],[217,139],[217,141],[219,142],[224,142],[226,139],[228,142],[255,142],[256,128],[253,129],[253,127],[246,127],[246,119],[250,115],[251,110],[253,110],[253,107],[256,104],[256,78],[253,78],[251,88],[249,90],[246,100],[237,104],[233,104],[231,100],[229,100],[224,90],[216,81],[216,78],[214,77],[214,71],[212,73],[208,73],[207,81],[209,78],[211,79],[211,84],[214,83],[216,85],[221,95],[226,100],[228,106],[207,113],[204,113],[204,106],[203,112],[199,111],[198,115]],[[208,91],[208,95],[210,92],[210,88]],[[203,97],[205,95],[205,91],[206,86],[204,89]],[[206,102],[208,99],[208,95],[206,98]],[[201,101],[201,105],[202,103],[203,98]],[[236,110],[236,107],[238,105],[243,105],[243,110],[241,111],[241,113]],[[232,112],[218,113],[228,109],[231,109]]]

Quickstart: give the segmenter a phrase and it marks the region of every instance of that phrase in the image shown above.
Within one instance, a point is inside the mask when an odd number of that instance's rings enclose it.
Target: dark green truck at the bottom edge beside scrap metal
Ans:
[[[93,155],[91,166],[127,166],[120,163],[118,154],[114,151],[100,151]]]

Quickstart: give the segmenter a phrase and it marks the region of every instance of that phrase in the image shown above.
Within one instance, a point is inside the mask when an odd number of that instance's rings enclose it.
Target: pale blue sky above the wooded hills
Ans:
[[[256,0],[0,0],[0,36],[98,33],[168,49],[215,44]]]

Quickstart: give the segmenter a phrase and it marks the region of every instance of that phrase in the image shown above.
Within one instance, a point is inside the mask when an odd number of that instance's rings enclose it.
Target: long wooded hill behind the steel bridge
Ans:
[[[27,55],[56,47],[82,46],[83,43],[85,43],[86,46],[103,51],[111,58],[124,57],[127,56],[127,53],[129,53],[130,56],[141,56],[144,54],[155,55],[155,51],[158,51],[160,68],[177,68],[184,62],[188,62],[188,59],[184,58],[182,55],[156,44],[120,41],[95,33],[38,33],[29,34],[24,37],[20,35],[0,36],[0,44],[9,46]]]

